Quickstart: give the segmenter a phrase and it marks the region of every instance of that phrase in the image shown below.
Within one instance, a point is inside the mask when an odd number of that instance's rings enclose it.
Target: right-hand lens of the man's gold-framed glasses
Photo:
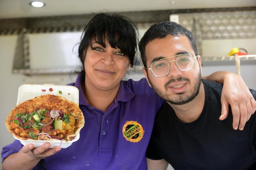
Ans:
[[[194,66],[194,57],[187,53],[176,57],[175,63],[182,71],[190,70]]]

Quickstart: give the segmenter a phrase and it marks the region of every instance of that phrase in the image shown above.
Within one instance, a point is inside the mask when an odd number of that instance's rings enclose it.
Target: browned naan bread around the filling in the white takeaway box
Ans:
[[[33,140],[29,133],[33,132],[34,135],[41,133],[41,130],[39,128],[31,128],[31,129],[25,129],[20,127],[18,124],[14,123],[13,120],[16,118],[15,115],[18,113],[25,113],[29,114],[34,111],[38,111],[41,109],[45,110],[61,110],[63,114],[72,114],[75,117],[75,129],[74,131],[65,131],[56,129],[57,133],[63,133],[65,135],[65,140],[70,141],[74,139],[76,135],[80,132],[82,127],[84,127],[84,115],[82,111],[80,110],[79,106],[75,104],[74,102],[71,102],[70,100],[67,100],[66,98],[62,96],[55,96],[55,95],[43,95],[38,96],[36,98],[27,100],[18,106],[16,106],[10,114],[6,118],[6,127],[12,135],[17,137],[18,139],[22,140]],[[55,131],[54,131],[55,132]],[[48,133],[51,134],[51,133]],[[38,137],[39,138],[39,137]],[[37,140],[58,140],[53,138],[48,138],[45,135],[41,135],[40,139]],[[62,139],[63,140],[63,139]]]

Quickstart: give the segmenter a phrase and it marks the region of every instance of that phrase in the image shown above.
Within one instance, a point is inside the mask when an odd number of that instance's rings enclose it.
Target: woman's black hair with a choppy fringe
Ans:
[[[96,41],[102,47],[106,47],[107,40],[112,48],[119,48],[129,57],[130,64],[133,66],[134,57],[137,52],[138,29],[134,22],[119,14],[96,14],[85,27],[80,45],[78,47],[78,58],[82,63],[84,72],[84,59],[87,48],[92,47],[92,41]]]

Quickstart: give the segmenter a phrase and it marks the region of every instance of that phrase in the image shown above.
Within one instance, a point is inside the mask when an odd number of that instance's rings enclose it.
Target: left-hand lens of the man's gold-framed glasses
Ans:
[[[169,72],[169,62],[167,60],[159,60],[151,63],[151,70],[156,77],[164,76]]]

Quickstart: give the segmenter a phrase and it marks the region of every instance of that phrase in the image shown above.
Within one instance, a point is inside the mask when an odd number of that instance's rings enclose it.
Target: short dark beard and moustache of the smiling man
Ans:
[[[170,95],[166,94],[165,92],[162,92],[159,88],[157,88],[157,86],[154,86],[154,84],[152,84],[152,82],[150,81],[149,78],[148,78],[148,81],[149,81],[150,85],[152,86],[153,90],[156,92],[156,94],[158,94],[158,96],[160,96],[167,102],[170,102],[171,104],[182,105],[182,104],[186,104],[186,103],[190,102],[198,95],[199,89],[200,89],[200,84],[201,84],[201,78],[202,78],[201,72],[199,71],[198,76],[194,81],[194,84],[191,84],[192,87],[194,87],[194,88],[190,92],[178,93],[178,94],[175,94],[175,96],[174,95],[170,96]],[[165,88],[167,88],[168,84],[170,84],[171,82],[179,82],[182,80],[185,80],[185,81],[187,81],[187,83],[190,83],[190,80],[188,78],[178,77],[177,79],[169,80],[165,84]]]

